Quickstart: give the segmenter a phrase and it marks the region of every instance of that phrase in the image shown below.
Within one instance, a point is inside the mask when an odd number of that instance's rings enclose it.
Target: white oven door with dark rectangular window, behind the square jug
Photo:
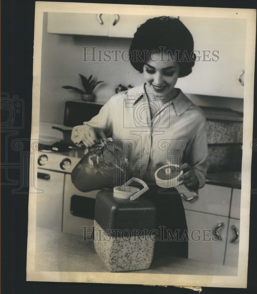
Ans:
[[[84,226],[88,227],[85,232],[92,231],[90,227],[94,226],[96,194],[99,191],[80,192],[71,182],[71,175],[65,175],[63,232],[84,236]]]

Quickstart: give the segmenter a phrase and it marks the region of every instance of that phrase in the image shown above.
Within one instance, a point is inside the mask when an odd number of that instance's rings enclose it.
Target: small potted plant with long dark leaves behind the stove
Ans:
[[[71,89],[71,90],[74,90],[74,91],[80,93],[81,100],[83,100],[83,101],[93,101],[95,98],[95,95],[92,92],[94,91],[95,87],[98,84],[103,83],[103,81],[98,81],[98,82],[94,81],[94,79],[92,79],[92,75],[89,78],[86,78],[82,74],[79,74],[79,76],[81,78],[81,82],[82,82],[84,90],[81,90],[81,89],[73,87],[73,86],[62,86],[62,88]]]

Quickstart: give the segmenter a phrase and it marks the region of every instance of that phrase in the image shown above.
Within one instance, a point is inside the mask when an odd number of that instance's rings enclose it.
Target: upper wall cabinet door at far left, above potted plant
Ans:
[[[50,34],[108,36],[109,14],[102,14],[101,20],[97,16],[98,14],[94,13],[49,12],[47,32]]]

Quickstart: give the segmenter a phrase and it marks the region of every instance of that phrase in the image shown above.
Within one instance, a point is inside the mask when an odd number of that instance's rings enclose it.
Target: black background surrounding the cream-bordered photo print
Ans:
[[[61,2],[61,1],[56,1]],[[62,1],[78,2],[78,1]],[[83,1],[85,2],[85,1]],[[87,2],[87,1],[86,1]],[[100,1],[89,1],[99,3]],[[110,1],[114,4],[173,5],[198,7],[253,8],[255,1]],[[1,93],[18,95],[24,100],[25,127],[17,138],[31,136],[32,69],[35,2],[31,0],[1,1]],[[256,80],[256,79],[255,79]],[[256,99],[254,103],[253,138],[257,138]],[[1,134],[1,162],[4,160]],[[29,151],[29,144],[25,146]],[[14,154],[9,154],[15,157]],[[13,159],[10,158],[10,159]],[[15,162],[15,161],[14,161]],[[257,189],[257,151],[253,151],[252,189]],[[250,163],[249,163],[250,164]],[[12,178],[19,178],[14,171]],[[2,181],[1,181],[2,182]],[[1,293],[196,293],[172,286],[114,285],[90,283],[50,283],[26,281],[26,249],[28,225],[28,194],[12,194],[13,187],[1,185]],[[202,293],[256,293],[256,203],[251,195],[250,247],[247,289],[206,288]],[[192,273],[193,274],[193,273]],[[233,286],[233,285],[232,285]]]

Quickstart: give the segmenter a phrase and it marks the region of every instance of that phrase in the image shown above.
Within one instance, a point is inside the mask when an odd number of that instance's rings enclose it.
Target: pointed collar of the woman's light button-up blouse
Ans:
[[[180,89],[178,90],[178,95],[170,100],[170,103],[173,104],[177,116],[184,113],[193,104],[193,102]],[[139,100],[146,96],[144,84],[129,89],[127,96],[129,96],[129,99],[135,99],[135,102],[133,103],[133,105],[135,105]]]

